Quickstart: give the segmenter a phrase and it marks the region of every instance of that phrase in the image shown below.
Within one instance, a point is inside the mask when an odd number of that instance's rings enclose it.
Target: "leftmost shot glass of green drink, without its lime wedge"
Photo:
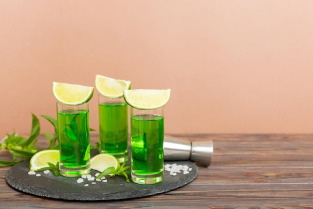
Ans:
[[[76,177],[90,172],[88,103],[56,103],[60,174]]]

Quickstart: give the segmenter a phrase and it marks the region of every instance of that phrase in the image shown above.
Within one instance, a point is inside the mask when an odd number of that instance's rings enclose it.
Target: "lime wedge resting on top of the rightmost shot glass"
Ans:
[[[124,99],[137,109],[155,109],[164,106],[169,100],[170,89],[131,89],[124,90]]]

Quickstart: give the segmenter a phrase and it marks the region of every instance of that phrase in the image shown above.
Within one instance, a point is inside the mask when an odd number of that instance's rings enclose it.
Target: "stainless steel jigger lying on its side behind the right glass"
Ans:
[[[164,136],[164,160],[191,160],[209,166],[213,153],[212,141],[189,141]]]

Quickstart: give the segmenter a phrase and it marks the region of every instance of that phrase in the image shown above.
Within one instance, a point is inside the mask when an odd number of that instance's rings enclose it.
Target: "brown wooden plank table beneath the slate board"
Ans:
[[[210,166],[198,165],[185,186],[134,199],[67,201],[10,187],[9,167],[0,167],[0,208],[313,208],[313,134],[172,135],[213,141]],[[0,151],[1,160],[9,156]]]

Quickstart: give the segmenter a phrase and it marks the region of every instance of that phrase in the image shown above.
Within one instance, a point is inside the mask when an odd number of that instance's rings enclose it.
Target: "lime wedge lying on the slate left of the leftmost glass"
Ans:
[[[48,167],[48,163],[56,164],[59,161],[59,152],[57,149],[46,149],[36,152],[30,158],[30,170],[37,170],[42,167]]]

